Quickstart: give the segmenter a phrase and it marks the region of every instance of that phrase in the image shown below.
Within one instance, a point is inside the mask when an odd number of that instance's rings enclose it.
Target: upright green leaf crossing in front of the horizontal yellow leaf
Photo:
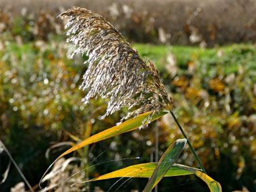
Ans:
[[[172,145],[164,152],[160,158],[158,165],[156,166],[150,181],[148,181],[145,189],[143,191],[150,192],[159,183],[159,181],[164,177],[166,172],[172,167],[175,160],[180,156],[183,151],[187,139],[178,139],[172,143]]]

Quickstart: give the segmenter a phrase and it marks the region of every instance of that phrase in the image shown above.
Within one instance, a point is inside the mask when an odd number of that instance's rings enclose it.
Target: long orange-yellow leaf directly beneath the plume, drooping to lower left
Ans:
[[[49,168],[47,168],[46,172],[44,172],[44,174],[42,175],[42,178],[44,177],[44,175],[49,171],[49,169],[53,166],[53,164],[55,164],[55,162],[57,160],[59,160],[59,158],[65,156],[66,154],[69,154],[75,150],[78,150],[79,148],[83,148],[84,146],[88,146],[92,143],[96,143],[98,141],[102,141],[104,139],[108,139],[110,137],[114,137],[115,135],[120,135],[122,133],[128,132],[128,131],[132,131],[134,129],[139,128],[142,124],[143,121],[152,113],[152,111],[147,112],[147,113],[143,113],[139,116],[137,116],[136,118],[133,119],[129,119],[128,121],[125,121],[124,123],[121,123],[120,125],[117,125],[115,127],[111,127],[110,129],[106,129],[100,133],[97,133],[96,135],[92,135],[92,137],[89,137],[87,139],[85,139],[84,141],[82,141],[81,143],[77,144],[76,146],[73,146],[73,148],[70,148],[69,150],[67,150],[66,152],[64,152],[63,154],[61,154],[50,166]],[[160,111],[160,113],[155,113],[152,117],[152,121],[155,121],[156,119],[162,117],[163,115],[166,115],[168,113],[168,111]],[[40,180],[39,186],[41,184],[42,178]]]

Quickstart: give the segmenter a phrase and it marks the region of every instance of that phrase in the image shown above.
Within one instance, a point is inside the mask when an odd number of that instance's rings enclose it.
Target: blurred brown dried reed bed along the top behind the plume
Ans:
[[[129,39],[140,42],[212,46],[255,42],[256,39],[256,2],[253,0],[77,0],[54,3],[49,0],[12,0],[1,1],[0,6],[1,11],[9,11],[9,17],[20,15],[20,7],[26,7],[28,13],[40,15],[48,11],[53,18],[69,7],[86,7],[103,15]]]

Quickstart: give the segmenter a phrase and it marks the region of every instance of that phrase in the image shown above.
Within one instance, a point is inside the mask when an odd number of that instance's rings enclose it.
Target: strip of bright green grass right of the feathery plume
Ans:
[[[165,69],[166,55],[172,53],[177,58],[177,65],[181,70],[187,70],[189,62],[199,62],[201,67],[207,67],[207,75],[210,76],[216,75],[217,68],[222,68],[224,75],[238,73],[239,66],[245,67],[255,76],[256,47],[253,44],[233,44],[212,49],[153,44],[133,44],[133,46],[141,57],[152,59],[160,71]],[[222,57],[218,56],[218,52],[222,52]]]

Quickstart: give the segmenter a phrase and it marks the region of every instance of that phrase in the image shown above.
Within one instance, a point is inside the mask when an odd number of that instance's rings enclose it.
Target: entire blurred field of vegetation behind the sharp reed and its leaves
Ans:
[[[256,191],[255,0],[0,0],[0,139],[34,190],[40,191],[40,177],[59,154],[127,113],[100,120],[106,100],[82,104],[86,93],[78,86],[88,57],[70,59],[65,20],[57,18],[72,6],[103,15],[142,57],[154,61],[174,98],[174,113],[223,191]],[[108,191],[117,179],[70,185],[154,162],[181,137],[165,115],[146,129],[65,156],[48,185],[55,191]],[[189,148],[178,162],[198,167]],[[0,147],[0,191],[28,190],[8,164]],[[142,191],[148,179],[125,181],[110,191]],[[158,191],[207,190],[194,176],[165,178],[158,185]]]

